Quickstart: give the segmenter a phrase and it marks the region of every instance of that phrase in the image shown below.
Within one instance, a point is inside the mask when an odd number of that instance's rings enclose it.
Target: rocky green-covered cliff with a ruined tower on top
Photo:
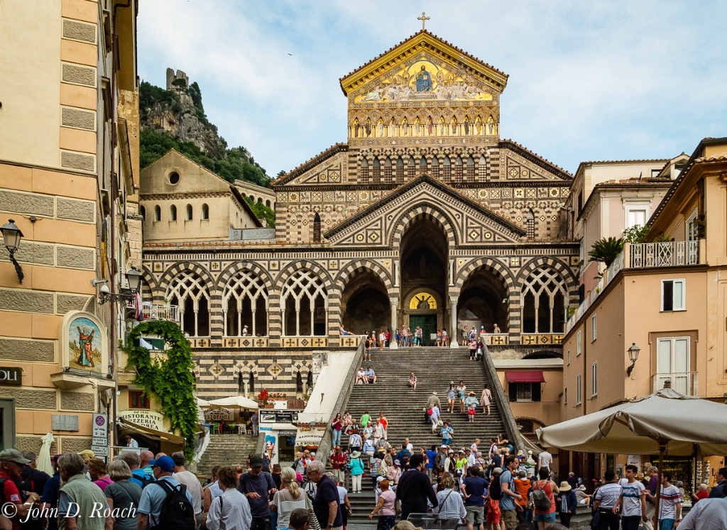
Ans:
[[[235,182],[270,185],[270,177],[244,147],[228,148],[204,113],[202,93],[186,73],[166,69],[166,89],[140,85],[140,164],[142,168],[177,149],[215,174]]]

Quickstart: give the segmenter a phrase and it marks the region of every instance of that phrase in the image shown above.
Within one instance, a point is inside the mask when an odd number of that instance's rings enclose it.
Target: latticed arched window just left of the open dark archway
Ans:
[[[283,334],[325,335],[328,326],[328,293],[312,270],[297,270],[281,291]]]

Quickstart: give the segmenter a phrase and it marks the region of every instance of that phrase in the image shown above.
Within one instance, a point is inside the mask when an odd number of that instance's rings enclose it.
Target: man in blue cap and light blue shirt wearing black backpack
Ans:
[[[156,482],[142,490],[137,530],[196,530],[192,495],[172,478],[174,460],[165,455],[149,464]]]

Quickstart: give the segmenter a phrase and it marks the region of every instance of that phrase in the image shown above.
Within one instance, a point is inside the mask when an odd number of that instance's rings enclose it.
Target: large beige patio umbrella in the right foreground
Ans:
[[[653,454],[659,451],[656,517],[662,461],[669,454],[691,455],[699,445],[704,456],[727,454],[727,405],[671,388],[566,422],[541,427],[536,433],[545,447],[590,453]]]

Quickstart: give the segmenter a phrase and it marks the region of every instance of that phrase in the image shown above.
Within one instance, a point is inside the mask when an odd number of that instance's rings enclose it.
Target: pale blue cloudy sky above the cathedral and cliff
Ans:
[[[501,136],[569,172],[727,136],[723,1],[145,0],[140,77],[202,90],[270,176],[346,141],[339,79],[421,29],[509,74]]]

